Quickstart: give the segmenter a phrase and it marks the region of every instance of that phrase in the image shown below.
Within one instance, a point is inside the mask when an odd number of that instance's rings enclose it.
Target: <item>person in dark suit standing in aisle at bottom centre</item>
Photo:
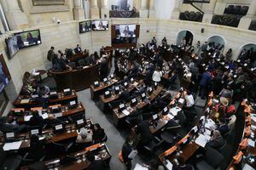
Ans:
[[[131,154],[132,150],[136,150],[134,141],[131,136],[128,136],[125,140],[125,144],[122,146],[122,156],[123,160],[125,162],[125,166],[127,167],[127,170],[131,170],[131,158],[129,155]]]

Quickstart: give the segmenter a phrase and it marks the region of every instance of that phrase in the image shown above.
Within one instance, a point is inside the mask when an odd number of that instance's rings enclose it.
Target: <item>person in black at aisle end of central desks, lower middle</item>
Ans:
[[[154,139],[153,134],[150,131],[151,119],[145,120],[143,122],[138,123],[137,125],[137,133],[141,134],[140,144],[148,144],[150,141]]]

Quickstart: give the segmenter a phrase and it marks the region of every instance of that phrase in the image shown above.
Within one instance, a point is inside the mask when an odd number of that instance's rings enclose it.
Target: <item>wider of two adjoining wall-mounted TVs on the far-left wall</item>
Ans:
[[[41,43],[40,31],[23,31],[15,33],[18,48],[27,48]]]

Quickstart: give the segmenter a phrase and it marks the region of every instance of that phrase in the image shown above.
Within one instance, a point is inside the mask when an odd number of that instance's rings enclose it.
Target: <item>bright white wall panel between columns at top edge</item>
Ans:
[[[170,20],[175,0],[157,0],[154,1],[156,18],[160,20]]]

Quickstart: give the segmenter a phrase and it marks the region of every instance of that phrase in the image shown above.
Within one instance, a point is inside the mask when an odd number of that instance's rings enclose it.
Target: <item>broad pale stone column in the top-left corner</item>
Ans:
[[[1,3],[10,30],[24,29],[29,26],[26,14],[20,10],[17,0],[1,0]]]

